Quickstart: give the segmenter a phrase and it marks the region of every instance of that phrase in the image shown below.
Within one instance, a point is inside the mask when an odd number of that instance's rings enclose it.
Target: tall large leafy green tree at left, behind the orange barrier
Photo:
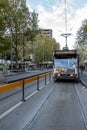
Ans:
[[[0,7],[0,33],[2,34],[0,41],[3,40],[3,36],[6,39],[6,34],[8,35],[10,52],[10,37],[12,35],[12,58],[17,64],[19,59],[25,60],[25,43],[28,44],[30,43],[28,41],[34,40],[38,16],[35,11],[29,12],[26,0],[1,0]],[[4,41],[2,41],[2,44],[3,47],[6,46]]]

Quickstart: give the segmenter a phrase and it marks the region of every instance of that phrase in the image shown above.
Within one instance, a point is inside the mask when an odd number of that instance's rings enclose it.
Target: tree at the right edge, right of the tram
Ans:
[[[87,19],[82,22],[77,32],[75,47],[79,52],[81,62],[83,62],[87,56]]]

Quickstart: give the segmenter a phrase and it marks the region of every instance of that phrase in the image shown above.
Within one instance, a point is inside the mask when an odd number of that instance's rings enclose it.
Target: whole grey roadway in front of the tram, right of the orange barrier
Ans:
[[[87,130],[84,95],[87,91],[80,83],[51,82],[6,116],[0,115],[0,130]]]

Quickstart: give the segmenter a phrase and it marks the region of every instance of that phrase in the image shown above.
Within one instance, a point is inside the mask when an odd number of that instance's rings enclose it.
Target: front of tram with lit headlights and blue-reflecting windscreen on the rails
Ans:
[[[55,50],[53,55],[53,79],[79,82],[79,55],[76,50]]]

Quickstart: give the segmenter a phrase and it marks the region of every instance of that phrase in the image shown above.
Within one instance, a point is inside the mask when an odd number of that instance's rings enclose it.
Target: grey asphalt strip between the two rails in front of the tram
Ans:
[[[56,84],[28,130],[86,130],[73,83]]]

